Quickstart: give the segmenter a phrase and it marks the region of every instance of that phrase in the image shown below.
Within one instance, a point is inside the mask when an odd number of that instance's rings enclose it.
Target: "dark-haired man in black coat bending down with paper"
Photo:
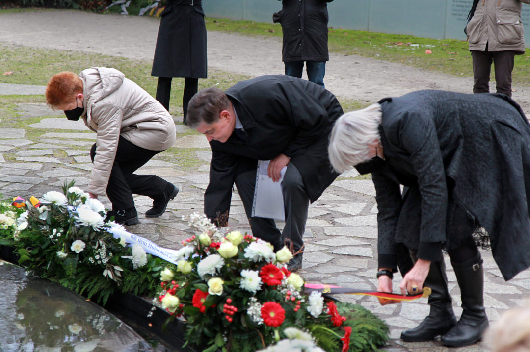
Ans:
[[[255,237],[280,249],[285,239],[303,249],[302,235],[309,202],[314,202],[338,176],[328,159],[328,136],[342,115],[337,98],[319,85],[284,75],[262,76],[222,92],[202,89],[191,99],[188,125],[204,133],[213,156],[205,213],[210,220],[226,216],[236,185]],[[281,183],[285,227],[280,235],[272,219],[251,217],[258,160],[271,160],[269,177]],[[302,266],[302,253],[288,268]]]

